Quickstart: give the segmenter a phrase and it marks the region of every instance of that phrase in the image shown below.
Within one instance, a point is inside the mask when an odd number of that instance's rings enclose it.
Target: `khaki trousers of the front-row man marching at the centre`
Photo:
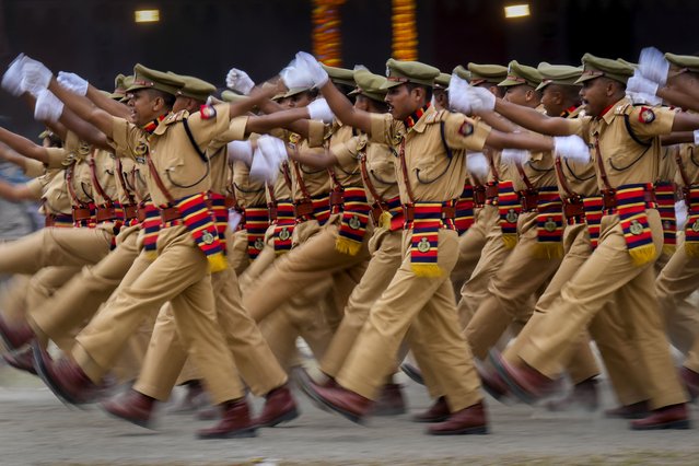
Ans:
[[[410,268],[411,232],[403,240],[403,263],[391,284],[372,307],[337,382],[366,398],[375,399],[395,368],[396,354],[410,326],[422,333],[422,347],[411,350],[420,366],[429,360],[445,389],[450,409],[457,411],[481,399],[480,381],[468,345],[458,330],[454,290],[448,279],[456,264],[458,236],[439,233],[438,264],[443,277],[416,276]]]

